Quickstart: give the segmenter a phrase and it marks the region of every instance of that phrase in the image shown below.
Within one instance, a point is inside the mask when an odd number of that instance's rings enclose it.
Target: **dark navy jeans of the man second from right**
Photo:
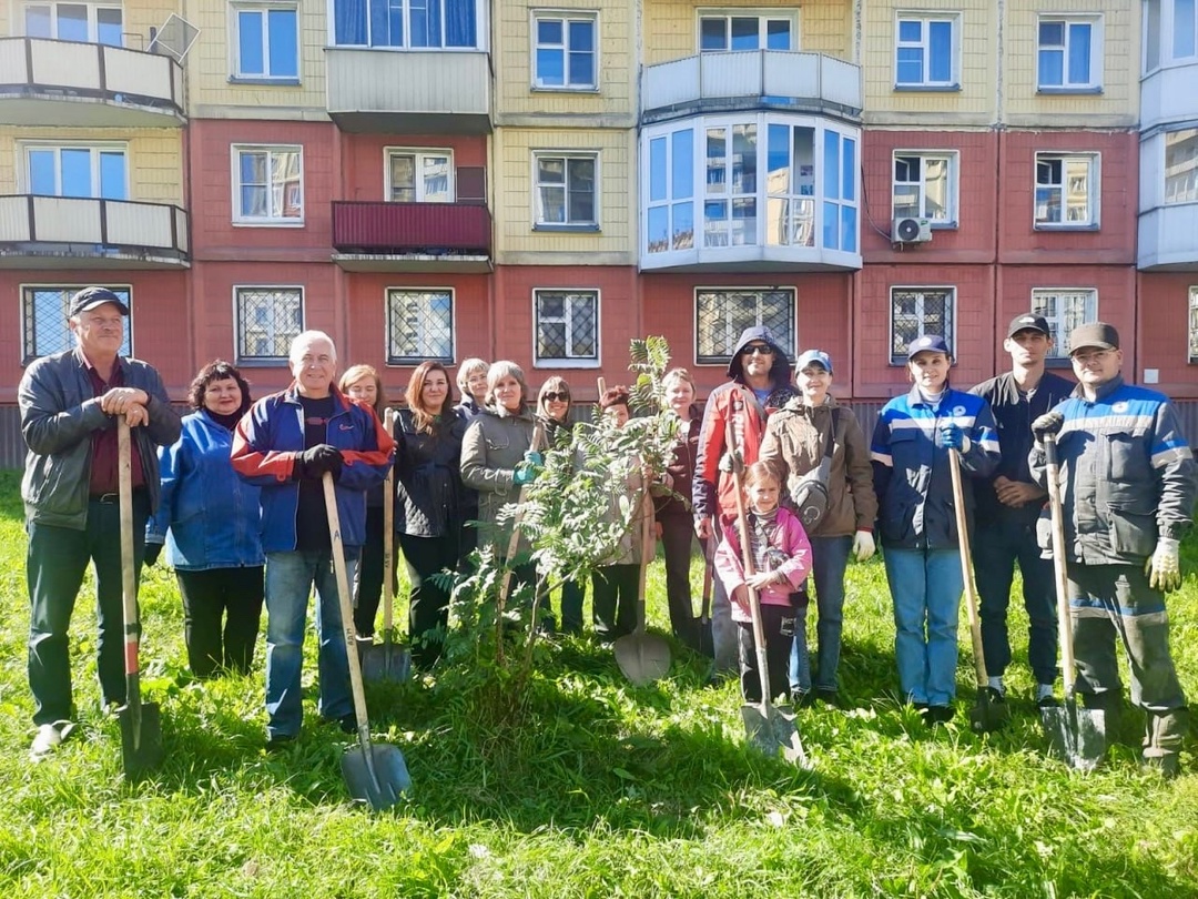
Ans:
[[[979,525],[973,541],[974,579],[981,601],[981,646],[986,674],[1002,677],[1011,663],[1006,607],[1018,561],[1023,608],[1028,610],[1028,663],[1036,683],[1057,680],[1057,599],[1051,559],[1040,557],[1035,526],[997,520]]]

